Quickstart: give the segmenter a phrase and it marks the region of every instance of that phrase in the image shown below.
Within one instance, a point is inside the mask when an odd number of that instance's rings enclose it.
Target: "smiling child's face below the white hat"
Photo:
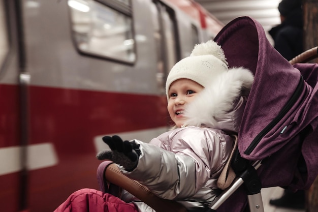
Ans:
[[[185,105],[192,102],[204,87],[190,79],[178,79],[169,88],[168,112],[177,127],[184,124]]]

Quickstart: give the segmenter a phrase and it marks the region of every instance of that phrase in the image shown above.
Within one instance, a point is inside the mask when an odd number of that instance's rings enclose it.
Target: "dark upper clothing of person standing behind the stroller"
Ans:
[[[274,39],[274,48],[287,60],[303,52],[303,15],[301,0],[283,0],[278,5],[281,24],[269,34]]]

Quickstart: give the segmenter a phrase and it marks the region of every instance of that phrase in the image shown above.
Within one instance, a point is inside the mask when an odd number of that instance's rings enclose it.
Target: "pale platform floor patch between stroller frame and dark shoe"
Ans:
[[[265,188],[261,190],[265,212],[305,212],[305,209],[281,208],[269,204],[270,199],[278,199],[281,197],[283,191],[284,190],[280,187]]]

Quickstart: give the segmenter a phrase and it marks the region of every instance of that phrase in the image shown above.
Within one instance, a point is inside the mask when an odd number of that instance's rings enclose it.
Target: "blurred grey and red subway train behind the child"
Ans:
[[[0,0],[0,211],[98,189],[102,137],[169,129],[165,80],[224,26],[192,0]]]

